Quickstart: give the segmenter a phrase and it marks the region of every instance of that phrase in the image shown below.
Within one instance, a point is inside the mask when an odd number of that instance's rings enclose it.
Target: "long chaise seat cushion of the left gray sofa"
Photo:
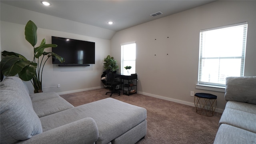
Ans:
[[[146,109],[113,98],[91,102],[40,118],[43,131],[48,131],[82,118],[95,120],[99,138],[97,144],[106,144],[146,119]]]

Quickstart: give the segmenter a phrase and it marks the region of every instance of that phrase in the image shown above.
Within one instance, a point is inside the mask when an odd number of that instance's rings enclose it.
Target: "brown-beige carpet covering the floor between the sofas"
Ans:
[[[61,95],[74,106],[109,98],[102,88]],[[142,94],[131,96],[112,94],[112,98],[147,109],[147,134],[137,144],[212,144],[220,113],[206,117],[195,112],[193,106],[161,100]]]

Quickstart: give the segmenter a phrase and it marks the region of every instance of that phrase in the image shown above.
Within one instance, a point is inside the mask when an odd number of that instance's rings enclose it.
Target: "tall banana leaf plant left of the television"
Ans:
[[[56,44],[46,44],[43,39],[40,46],[35,47],[37,43],[37,26],[31,20],[25,26],[25,38],[33,46],[34,58],[32,61],[28,60],[21,54],[15,52],[3,51],[0,62],[1,81],[4,76],[15,76],[18,74],[20,79],[32,82],[34,86],[34,93],[42,91],[42,72],[46,61],[50,57],[58,59],[60,62],[65,62],[65,59],[53,52],[44,52],[45,48],[57,47]],[[40,58],[42,56],[42,58]]]

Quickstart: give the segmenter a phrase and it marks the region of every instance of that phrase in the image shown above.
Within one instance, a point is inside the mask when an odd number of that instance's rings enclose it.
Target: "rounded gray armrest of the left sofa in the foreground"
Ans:
[[[18,144],[94,144],[98,140],[98,127],[92,118],[48,130]]]

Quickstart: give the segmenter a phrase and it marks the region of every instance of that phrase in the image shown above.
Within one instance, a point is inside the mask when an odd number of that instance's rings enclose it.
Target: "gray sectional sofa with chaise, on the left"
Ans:
[[[29,94],[24,82],[1,82],[1,144],[134,144],[146,135],[145,108],[113,98],[74,107],[54,92]]]

